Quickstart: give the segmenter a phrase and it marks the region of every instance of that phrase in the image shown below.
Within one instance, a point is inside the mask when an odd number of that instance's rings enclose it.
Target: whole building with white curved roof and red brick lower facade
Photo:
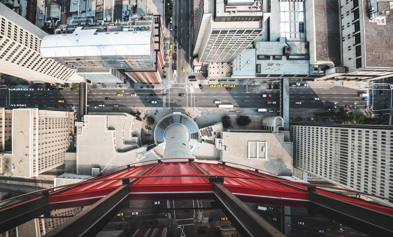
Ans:
[[[135,14],[127,22],[72,20],[47,35],[42,57],[76,70],[95,83],[160,83],[164,46],[160,17]]]

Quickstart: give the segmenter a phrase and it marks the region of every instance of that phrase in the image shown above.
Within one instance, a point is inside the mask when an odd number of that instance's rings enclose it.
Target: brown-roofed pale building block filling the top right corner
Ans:
[[[324,79],[393,75],[393,16],[388,1],[305,1],[312,72]]]

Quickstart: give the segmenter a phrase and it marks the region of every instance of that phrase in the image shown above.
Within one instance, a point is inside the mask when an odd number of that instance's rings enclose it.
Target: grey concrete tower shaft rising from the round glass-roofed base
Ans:
[[[190,134],[187,128],[180,124],[171,125],[165,131],[165,151],[163,158],[193,158],[189,145]],[[168,162],[171,160],[165,160]],[[173,160],[181,161],[181,160]]]

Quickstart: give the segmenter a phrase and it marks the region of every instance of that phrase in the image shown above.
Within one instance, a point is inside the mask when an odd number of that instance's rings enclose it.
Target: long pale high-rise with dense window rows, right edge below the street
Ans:
[[[393,126],[292,124],[290,133],[295,168],[348,189],[393,197]]]

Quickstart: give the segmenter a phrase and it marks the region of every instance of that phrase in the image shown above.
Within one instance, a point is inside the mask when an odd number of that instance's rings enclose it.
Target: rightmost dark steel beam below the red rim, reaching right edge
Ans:
[[[310,210],[370,236],[393,236],[393,216],[309,190]]]

